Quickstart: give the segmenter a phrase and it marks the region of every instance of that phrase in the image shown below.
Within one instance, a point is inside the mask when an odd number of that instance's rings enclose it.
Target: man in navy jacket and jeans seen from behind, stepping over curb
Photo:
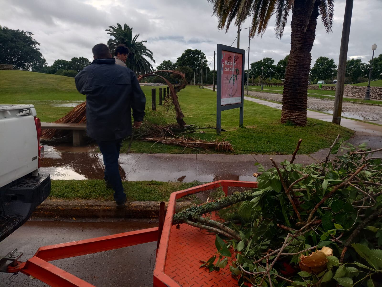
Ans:
[[[105,182],[114,190],[117,207],[126,202],[118,169],[120,144],[131,135],[131,110],[134,128],[145,115],[146,98],[136,75],[115,64],[105,44],[92,49],[94,61],[74,78],[76,88],[86,95],[86,133],[99,145],[104,157]]]

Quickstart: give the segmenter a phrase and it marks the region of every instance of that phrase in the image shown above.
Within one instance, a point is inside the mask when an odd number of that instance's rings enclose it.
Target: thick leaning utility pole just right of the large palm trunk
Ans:
[[[338,60],[337,86],[335,89],[333,123],[341,124],[343,89],[345,85],[346,59],[348,58],[348,46],[350,35],[351,14],[353,12],[353,0],[346,0],[345,16],[343,17],[340,58]]]

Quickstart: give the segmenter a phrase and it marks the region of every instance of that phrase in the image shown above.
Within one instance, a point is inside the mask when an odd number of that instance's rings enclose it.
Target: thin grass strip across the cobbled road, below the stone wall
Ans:
[[[358,85],[358,84],[357,84]],[[334,86],[334,85],[333,85]],[[245,90],[245,89],[244,89]],[[283,87],[264,87],[264,90],[261,91],[261,87],[256,86],[256,88],[249,88],[250,91],[255,92],[275,92],[277,94],[283,93]],[[245,94],[245,91],[244,91]],[[332,96],[332,97],[329,97]],[[308,97],[315,97],[319,99],[332,99],[334,100],[335,91],[324,91],[324,90],[312,90],[308,89]],[[343,98],[344,102],[358,102],[362,104],[374,104],[374,105],[382,105],[382,101],[374,101],[374,100],[367,100],[361,98]]]

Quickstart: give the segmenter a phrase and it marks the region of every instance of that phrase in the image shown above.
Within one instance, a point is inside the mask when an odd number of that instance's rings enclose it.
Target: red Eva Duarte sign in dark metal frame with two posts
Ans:
[[[243,126],[245,50],[218,44],[217,56],[216,133],[220,135],[223,110],[240,108],[239,126]]]

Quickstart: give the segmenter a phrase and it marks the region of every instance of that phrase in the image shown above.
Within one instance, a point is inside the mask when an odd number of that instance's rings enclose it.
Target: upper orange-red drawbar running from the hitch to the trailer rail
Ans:
[[[158,227],[90,238],[40,247],[34,256],[52,261],[153,242],[158,239]]]

